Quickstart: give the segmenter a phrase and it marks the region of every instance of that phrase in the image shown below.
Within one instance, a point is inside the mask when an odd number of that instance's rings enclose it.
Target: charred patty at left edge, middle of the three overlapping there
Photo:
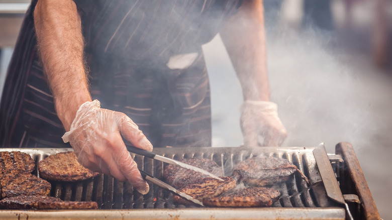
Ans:
[[[18,195],[48,195],[51,185],[24,170],[12,169],[5,171],[0,179],[2,198]]]

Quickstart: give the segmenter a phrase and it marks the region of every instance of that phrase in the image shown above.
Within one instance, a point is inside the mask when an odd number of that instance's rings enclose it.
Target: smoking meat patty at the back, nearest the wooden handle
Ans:
[[[287,181],[296,171],[308,178],[290,161],[275,157],[252,157],[233,168],[233,176],[250,186],[266,186]]]

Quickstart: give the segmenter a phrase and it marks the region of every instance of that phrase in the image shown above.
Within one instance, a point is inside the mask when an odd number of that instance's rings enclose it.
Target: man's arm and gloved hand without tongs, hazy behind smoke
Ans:
[[[236,15],[221,31],[221,37],[242,86],[244,144],[281,145],[287,132],[277,117],[277,105],[269,102],[262,1],[243,1]]]

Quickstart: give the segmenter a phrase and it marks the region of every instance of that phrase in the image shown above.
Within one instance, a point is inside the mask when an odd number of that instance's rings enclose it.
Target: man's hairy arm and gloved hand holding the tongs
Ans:
[[[78,161],[85,167],[129,181],[141,193],[149,186],[127,151],[123,138],[135,147],[151,143],[124,113],[91,101],[83,65],[83,37],[76,5],[71,0],[39,0],[34,11],[38,47],[53,93],[56,112]]]

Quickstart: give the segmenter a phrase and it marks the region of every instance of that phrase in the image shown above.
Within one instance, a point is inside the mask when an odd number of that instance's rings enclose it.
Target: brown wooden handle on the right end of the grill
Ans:
[[[363,213],[361,219],[381,219],[353,146],[348,142],[340,142],[336,145],[335,152],[342,156],[346,168],[340,187],[345,194],[358,195]]]

